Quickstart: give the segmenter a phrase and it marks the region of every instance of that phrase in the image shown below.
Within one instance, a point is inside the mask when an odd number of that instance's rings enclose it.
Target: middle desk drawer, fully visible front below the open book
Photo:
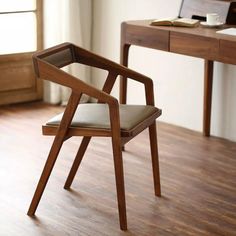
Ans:
[[[219,43],[214,38],[171,32],[170,51],[208,60],[216,60],[218,58]]]

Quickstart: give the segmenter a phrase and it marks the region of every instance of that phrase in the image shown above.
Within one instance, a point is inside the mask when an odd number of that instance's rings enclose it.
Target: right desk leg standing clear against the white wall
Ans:
[[[211,100],[213,83],[213,61],[205,60],[204,67],[204,111],[203,111],[203,135],[210,136],[211,129]]]

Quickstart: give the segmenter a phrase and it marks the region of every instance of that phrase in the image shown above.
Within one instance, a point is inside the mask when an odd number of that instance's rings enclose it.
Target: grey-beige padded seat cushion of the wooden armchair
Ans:
[[[147,105],[120,105],[120,127],[131,130],[153,116],[156,119],[161,110]],[[50,119],[47,126],[58,126],[63,113]],[[86,103],[79,104],[73,117],[71,127],[110,129],[109,108],[107,104]]]

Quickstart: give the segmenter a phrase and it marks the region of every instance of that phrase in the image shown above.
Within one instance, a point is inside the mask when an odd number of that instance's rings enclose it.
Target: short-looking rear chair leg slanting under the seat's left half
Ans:
[[[68,175],[68,177],[66,179],[66,182],[65,182],[65,185],[64,185],[65,189],[69,189],[70,188],[70,186],[71,186],[71,184],[73,182],[73,179],[75,177],[75,174],[76,174],[76,172],[77,172],[77,170],[78,170],[78,168],[80,166],[80,163],[81,163],[81,161],[83,159],[84,153],[85,153],[85,151],[86,151],[86,149],[88,147],[88,144],[89,144],[90,140],[91,140],[91,137],[84,137],[83,138],[83,140],[82,140],[82,142],[80,144],[79,150],[78,150],[78,152],[76,154],[75,160],[74,160],[74,162],[72,164],[72,167],[70,169],[70,173],[69,173],[69,175]]]

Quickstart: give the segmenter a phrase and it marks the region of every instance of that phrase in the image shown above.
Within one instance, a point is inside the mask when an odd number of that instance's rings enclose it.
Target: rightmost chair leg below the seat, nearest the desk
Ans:
[[[154,122],[152,125],[149,126],[149,138],[150,138],[150,147],[151,147],[151,155],[152,155],[154,191],[155,191],[155,195],[160,197],[161,185],[160,185],[156,122]]]

